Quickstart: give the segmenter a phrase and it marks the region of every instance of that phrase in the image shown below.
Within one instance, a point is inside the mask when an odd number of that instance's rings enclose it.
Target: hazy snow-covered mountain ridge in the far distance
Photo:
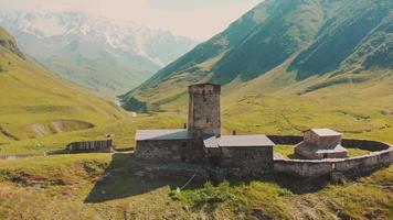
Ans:
[[[31,34],[41,40],[72,36],[98,40],[115,50],[132,52],[161,67],[197,44],[191,38],[176,36],[168,31],[152,30],[134,22],[111,20],[84,12],[4,12],[0,13],[0,24],[11,31]],[[174,47],[171,56],[159,53],[150,46],[157,45],[157,42],[164,45],[164,41],[183,46],[178,52]]]

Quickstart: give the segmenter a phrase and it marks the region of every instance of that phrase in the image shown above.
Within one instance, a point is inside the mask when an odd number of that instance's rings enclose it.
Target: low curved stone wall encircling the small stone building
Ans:
[[[270,138],[270,136],[269,136]],[[278,136],[270,138],[276,144],[296,144],[302,141],[301,136]],[[378,168],[389,166],[393,163],[393,146],[378,141],[370,140],[342,140],[344,147],[358,147],[372,153],[363,156],[349,158],[328,160],[274,160],[274,172],[285,173],[301,178],[318,178],[333,173],[342,173],[346,176],[359,176]]]

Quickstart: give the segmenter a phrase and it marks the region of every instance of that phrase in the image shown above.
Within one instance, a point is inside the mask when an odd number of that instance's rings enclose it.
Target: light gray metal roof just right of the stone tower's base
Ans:
[[[257,135],[227,135],[217,139],[219,146],[274,146],[275,144],[262,134]]]

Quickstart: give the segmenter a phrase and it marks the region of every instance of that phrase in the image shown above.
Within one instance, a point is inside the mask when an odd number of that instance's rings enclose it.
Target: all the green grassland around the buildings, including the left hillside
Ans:
[[[0,30],[0,37],[6,36],[12,40]],[[150,97],[156,111],[131,117],[3,47],[0,66],[0,155],[42,154],[106,134],[115,134],[118,147],[129,147],[137,129],[187,122],[187,96],[170,82],[172,90]],[[223,133],[300,134],[327,127],[347,138],[393,143],[393,85],[389,73],[380,76],[374,79],[379,84],[337,85],[301,96],[291,87],[267,92],[264,85],[276,78],[234,82],[223,90]],[[275,152],[293,156],[290,146]],[[334,185],[266,176],[217,186],[192,183],[181,193],[176,189],[184,182],[140,178],[140,168],[132,153],[0,161],[0,219],[393,218],[393,166]]]

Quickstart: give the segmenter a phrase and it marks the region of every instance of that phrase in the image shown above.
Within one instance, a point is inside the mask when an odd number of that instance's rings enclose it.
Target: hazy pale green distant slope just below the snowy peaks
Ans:
[[[129,67],[135,64],[127,64],[129,61],[114,58],[110,54],[104,52],[93,54],[96,56],[84,57],[75,52],[64,52],[62,55],[41,62],[63,78],[111,97],[135,88],[156,70],[155,67],[135,70]],[[146,66],[149,66],[149,64],[146,64]]]

